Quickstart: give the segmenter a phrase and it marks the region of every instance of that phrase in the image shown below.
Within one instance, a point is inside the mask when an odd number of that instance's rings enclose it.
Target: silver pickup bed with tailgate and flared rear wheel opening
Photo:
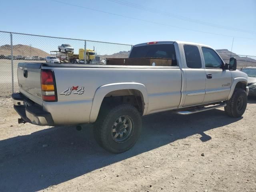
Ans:
[[[40,70],[50,69],[54,72],[57,102],[42,100]],[[28,77],[24,77],[28,70]],[[18,80],[20,92],[33,102],[43,106],[47,112],[54,111],[52,118],[56,124],[90,122],[92,102],[96,91],[109,85],[139,84],[144,86],[148,103],[145,114],[178,108],[181,98],[182,74],[175,66],[111,66],[87,64],[49,64],[19,63]],[[84,88],[82,94],[66,95],[65,90],[72,87]],[[111,90],[109,91],[111,92]],[[107,92],[102,97],[111,96]],[[66,121],[65,121],[66,120]]]

